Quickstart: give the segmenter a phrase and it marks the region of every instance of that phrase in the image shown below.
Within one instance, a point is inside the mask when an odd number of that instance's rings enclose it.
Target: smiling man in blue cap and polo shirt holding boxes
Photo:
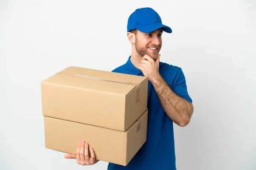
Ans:
[[[128,61],[113,72],[148,77],[147,141],[127,166],[108,164],[108,170],[176,170],[173,122],[184,127],[190,122],[193,105],[181,68],[160,62],[162,33],[172,29],[162,24],[152,8],[139,8],[128,19],[127,36],[132,52]],[[67,154],[78,164],[95,164],[88,145],[79,144],[77,155]]]

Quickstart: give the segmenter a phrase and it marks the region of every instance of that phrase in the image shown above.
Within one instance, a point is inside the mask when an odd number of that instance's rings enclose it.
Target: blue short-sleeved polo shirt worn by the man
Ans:
[[[142,71],[128,61],[112,72],[143,76]],[[159,63],[159,72],[177,95],[189,102],[186,80],[181,68]],[[108,164],[108,170],[176,170],[173,122],[167,116],[157,93],[148,81],[148,129],[147,140],[127,166]]]

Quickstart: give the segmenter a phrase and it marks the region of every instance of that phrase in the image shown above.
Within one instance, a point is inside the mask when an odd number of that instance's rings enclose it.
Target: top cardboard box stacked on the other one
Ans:
[[[70,66],[41,95],[43,116],[126,131],[147,110],[148,78]]]

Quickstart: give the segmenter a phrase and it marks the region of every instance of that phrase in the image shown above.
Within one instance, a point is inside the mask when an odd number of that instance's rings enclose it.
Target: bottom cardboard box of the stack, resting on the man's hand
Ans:
[[[126,166],[146,141],[147,120],[148,110],[128,130],[119,131],[44,116],[45,147],[76,155],[79,142],[85,141],[97,160]]]

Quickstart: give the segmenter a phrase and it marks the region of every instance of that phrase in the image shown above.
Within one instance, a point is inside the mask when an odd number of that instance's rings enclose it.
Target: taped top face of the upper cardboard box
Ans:
[[[126,95],[145,79],[147,77],[70,66],[42,81],[42,84]]]

